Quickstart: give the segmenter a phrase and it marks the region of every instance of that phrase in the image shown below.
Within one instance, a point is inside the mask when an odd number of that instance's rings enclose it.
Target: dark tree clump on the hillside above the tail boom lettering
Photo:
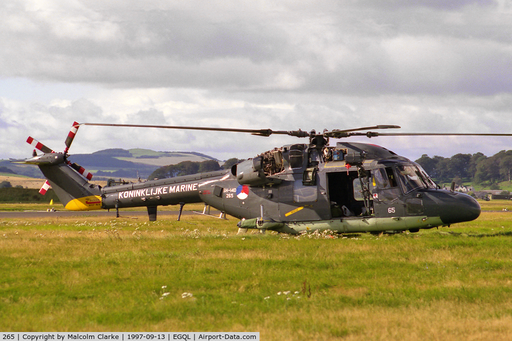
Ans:
[[[168,177],[191,175],[203,172],[213,172],[221,169],[230,169],[232,165],[237,164],[240,161],[241,160],[238,160],[237,158],[230,158],[224,163],[222,167],[216,160],[206,160],[203,162],[183,161],[176,165],[160,167],[156,169],[153,173],[151,173],[150,176],[147,177],[147,179],[164,179]]]

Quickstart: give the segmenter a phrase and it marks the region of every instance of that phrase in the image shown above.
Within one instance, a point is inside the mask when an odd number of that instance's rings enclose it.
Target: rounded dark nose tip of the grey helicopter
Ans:
[[[451,192],[444,194],[439,202],[439,217],[443,223],[450,225],[475,220],[480,216],[480,204],[472,196]]]

